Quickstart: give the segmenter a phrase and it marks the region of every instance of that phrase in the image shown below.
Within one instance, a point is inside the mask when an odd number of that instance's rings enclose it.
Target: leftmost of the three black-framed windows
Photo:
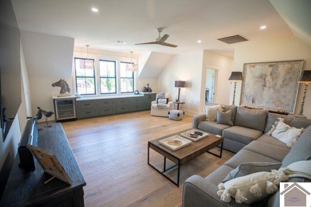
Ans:
[[[74,58],[77,92],[81,95],[94,95],[96,94],[95,70],[81,69],[80,60],[86,60],[86,58]],[[94,60],[94,59],[90,59],[90,60]]]

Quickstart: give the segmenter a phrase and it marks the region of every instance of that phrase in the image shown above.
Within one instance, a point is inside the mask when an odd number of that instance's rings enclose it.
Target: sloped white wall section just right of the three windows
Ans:
[[[148,54],[140,55],[140,64],[145,64],[139,65],[138,78],[156,79],[171,58],[171,54],[160,52],[150,52],[149,56]]]

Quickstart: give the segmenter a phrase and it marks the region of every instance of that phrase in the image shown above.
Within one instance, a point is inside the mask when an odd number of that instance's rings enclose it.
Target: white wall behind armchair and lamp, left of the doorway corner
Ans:
[[[175,80],[186,81],[186,87],[180,90],[180,97],[186,102],[183,110],[187,114],[197,114],[200,106],[202,70],[202,50],[174,55],[158,77],[157,91],[170,92],[175,100],[178,97],[178,88],[174,87]]]

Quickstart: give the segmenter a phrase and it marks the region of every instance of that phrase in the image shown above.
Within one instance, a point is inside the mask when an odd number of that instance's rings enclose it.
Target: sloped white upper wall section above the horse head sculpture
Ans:
[[[21,31],[29,76],[70,78],[74,38]]]

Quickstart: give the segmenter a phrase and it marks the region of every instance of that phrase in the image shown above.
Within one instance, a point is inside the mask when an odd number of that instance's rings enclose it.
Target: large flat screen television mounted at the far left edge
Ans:
[[[20,33],[11,0],[0,0],[0,127],[3,142],[21,103]]]

